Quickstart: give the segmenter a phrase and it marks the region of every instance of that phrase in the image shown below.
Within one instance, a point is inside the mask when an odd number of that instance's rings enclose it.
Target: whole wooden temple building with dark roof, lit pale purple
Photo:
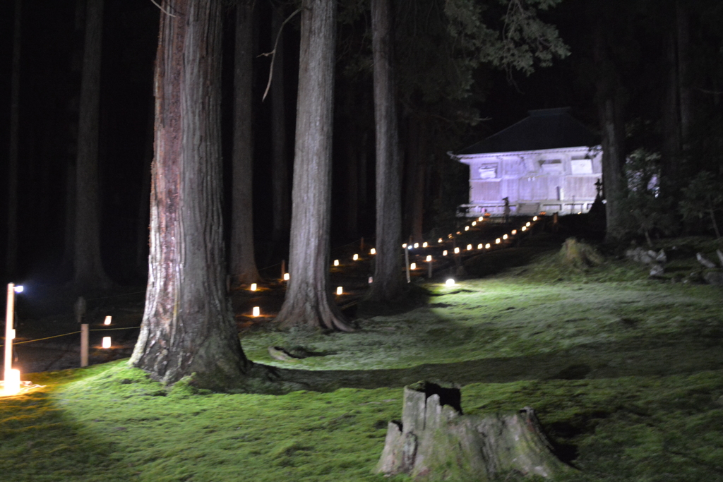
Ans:
[[[469,165],[469,204],[458,215],[475,218],[544,211],[587,212],[602,180],[596,136],[568,108],[529,111],[529,117],[450,155]]]

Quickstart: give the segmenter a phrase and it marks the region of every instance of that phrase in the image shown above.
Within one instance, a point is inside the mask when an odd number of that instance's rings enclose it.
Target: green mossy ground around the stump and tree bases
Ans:
[[[424,376],[463,384],[466,413],[535,408],[581,469],[570,480],[723,481],[721,288],[547,256],[427,289],[352,334],[242,337],[260,363],[358,375],[332,392],[166,390],[126,361],[29,376],[46,387],[0,399],[1,480],[402,481],[372,470],[401,386]],[[269,345],[320,356],[275,361]]]

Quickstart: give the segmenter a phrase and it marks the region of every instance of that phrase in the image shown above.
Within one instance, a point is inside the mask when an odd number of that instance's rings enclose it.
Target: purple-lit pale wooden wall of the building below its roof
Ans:
[[[470,215],[500,214],[510,199],[514,212],[587,212],[602,178],[602,151],[569,147],[529,152],[458,156],[469,165]]]

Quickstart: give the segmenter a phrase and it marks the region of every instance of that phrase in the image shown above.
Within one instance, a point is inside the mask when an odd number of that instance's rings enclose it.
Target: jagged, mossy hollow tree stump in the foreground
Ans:
[[[573,470],[557,458],[531,408],[466,416],[460,400],[454,388],[428,382],[405,387],[402,420],[389,423],[377,473],[492,481],[510,472],[551,478]]]

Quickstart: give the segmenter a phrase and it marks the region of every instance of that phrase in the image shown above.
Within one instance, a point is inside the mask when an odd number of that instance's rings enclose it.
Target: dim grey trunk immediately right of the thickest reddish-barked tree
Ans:
[[[231,221],[231,276],[241,284],[256,283],[254,259],[252,140],[253,1],[236,5],[234,53],[234,190]]]

